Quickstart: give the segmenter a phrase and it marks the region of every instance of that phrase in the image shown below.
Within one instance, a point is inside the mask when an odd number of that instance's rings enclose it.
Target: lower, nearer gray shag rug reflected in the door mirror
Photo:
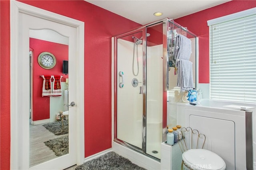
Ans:
[[[62,156],[68,154],[68,135],[63,137],[58,137],[44,142],[44,144],[49,147],[56,156]]]

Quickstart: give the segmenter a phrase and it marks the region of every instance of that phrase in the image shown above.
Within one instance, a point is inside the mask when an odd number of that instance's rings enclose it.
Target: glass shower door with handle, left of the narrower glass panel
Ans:
[[[142,150],[143,46],[142,30],[117,37],[116,139]]]

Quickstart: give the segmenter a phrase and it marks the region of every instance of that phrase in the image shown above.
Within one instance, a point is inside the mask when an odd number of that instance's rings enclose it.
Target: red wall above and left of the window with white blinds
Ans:
[[[255,0],[232,0],[174,21],[199,37],[199,83],[209,83],[209,27],[207,21],[256,7]]]

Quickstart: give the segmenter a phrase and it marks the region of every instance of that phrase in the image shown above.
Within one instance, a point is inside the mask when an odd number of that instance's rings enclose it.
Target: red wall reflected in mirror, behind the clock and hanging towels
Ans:
[[[30,38],[29,46],[33,49],[34,57],[32,120],[50,119],[50,97],[42,97],[43,78],[40,75],[60,75],[63,76],[61,81],[66,81],[68,74],[62,74],[62,61],[68,60],[68,45]],[[38,56],[45,51],[52,53],[56,57],[56,65],[52,69],[44,69],[38,64]]]

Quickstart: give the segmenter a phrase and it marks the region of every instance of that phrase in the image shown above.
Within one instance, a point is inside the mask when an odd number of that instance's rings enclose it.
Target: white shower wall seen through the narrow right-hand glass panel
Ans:
[[[161,158],[163,114],[163,46],[147,47],[146,153]],[[153,153],[152,151],[158,151]]]

